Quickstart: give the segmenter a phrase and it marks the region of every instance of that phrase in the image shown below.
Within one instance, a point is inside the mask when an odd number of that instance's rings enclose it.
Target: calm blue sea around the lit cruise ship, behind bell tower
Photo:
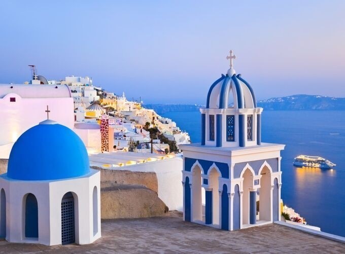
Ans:
[[[170,112],[200,142],[199,112]],[[330,135],[339,133],[339,135]],[[282,151],[282,199],[310,225],[345,236],[345,111],[264,111],[262,141],[286,144]],[[297,168],[299,154],[324,157],[337,164],[333,170]]]

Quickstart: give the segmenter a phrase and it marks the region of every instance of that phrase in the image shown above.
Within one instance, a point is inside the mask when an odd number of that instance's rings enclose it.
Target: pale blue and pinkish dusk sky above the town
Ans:
[[[0,83],[92,77],[144,103],[204,104],[226,56],[258,99],[345,97],[345,1],[1,1]]]

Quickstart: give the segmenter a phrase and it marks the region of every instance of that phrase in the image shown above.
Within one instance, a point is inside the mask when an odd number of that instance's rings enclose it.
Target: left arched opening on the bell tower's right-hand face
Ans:
[[[243,224],[250,224],[250,189],[253,188],[253,173],[247,168],[242,176],[243,179],[243,197],[242,197],[242,220]]]

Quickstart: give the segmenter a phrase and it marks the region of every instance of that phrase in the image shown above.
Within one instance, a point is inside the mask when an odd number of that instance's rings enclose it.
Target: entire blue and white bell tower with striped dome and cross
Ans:
[[[200,109],[201,143],[181,149],[184,220],[231,231],[280,221],[285,146],[261,142],[262,108],[227,59]]]

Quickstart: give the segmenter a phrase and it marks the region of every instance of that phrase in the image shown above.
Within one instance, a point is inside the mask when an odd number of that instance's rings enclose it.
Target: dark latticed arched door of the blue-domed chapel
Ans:
[[[61,200],[61,244],[75,242],[74,196],[67,192]]]

